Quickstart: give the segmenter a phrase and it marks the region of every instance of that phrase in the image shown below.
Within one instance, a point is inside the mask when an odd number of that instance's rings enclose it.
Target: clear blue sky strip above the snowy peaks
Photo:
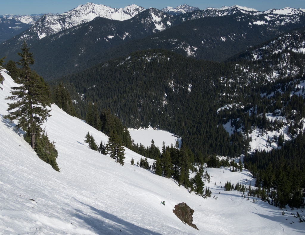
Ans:
[[[231,6],[240,5],[250,8],[255,8],[259,11],[264,11],[272,8],[280,9],[285,6],[293,8],[303,8],[305,9],[305,0],[155,0],[155,1],[140,1],[140,0],[96,0],[96,1],[86,1],[86,0],[9,0],[1,4],[0,15],[4,14],[40,14],[40,13],[63,13],[69,11],[80,4],[85,4],[87,2],[93,2],[96,4],[104,4],[106,6],[111,6],[113,8],[120,8],[131,4],[136,4],[144,8],[155,7],[157,9],[162,9],[166,6],[176,7],[184,3],[190,6],[196,6],[200,9],[205,9],[206,7],[216,7],[221,6]]]

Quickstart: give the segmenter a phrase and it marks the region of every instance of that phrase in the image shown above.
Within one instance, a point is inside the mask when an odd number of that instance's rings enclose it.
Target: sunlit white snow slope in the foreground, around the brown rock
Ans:
[[[237,191],[224,191],[231,183],[254,185],[248,171],[208,169],[212,197],[188,193],[177,182],[131,166],[141,156],[126,149],[125,165],[88,148],[89,131],[96,142],[107,137],[84,121],[52,105],[45,122],[58,150],[61,172],[38,158],[23,140],[23,132],[3,119],[13,80],[0,90],[0,234],[302,234],[305,223],[257,199],[253,203]],[[143,135],[143,139],[145,136]],[[151,139],[151,137],[149,137]],[[152,161],[150,161],[152,162]],[[246,182],[247,181],[247,182]],[[215,183],[215,184],[214,184]],[[222,186],[222,187],[221,187]],[[220,194],[218,194],[220,192]],[[215,200],[215,198],[217,200]],[[165,206],[161,201],[165,201]],[[195,210],[199,231],[174,215],[174,205],[186,202]],[[301,215],[301,210],[297,210]],[[287,219],[287,220],[286,220]],[[293,222],[293,223],[292,223]]]

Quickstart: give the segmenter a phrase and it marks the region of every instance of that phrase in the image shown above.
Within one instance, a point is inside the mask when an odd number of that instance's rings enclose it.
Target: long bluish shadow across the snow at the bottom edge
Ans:
[[[135,224],[125,221],[117,217],[116,215],[109,214],[108,212],[99,210],[91,205],[87,205],[77,199],[75,199],[84,206],[91,209],[92,214],[98,216],[87,215],[81,210],[77,209],[77,213],[73,214],[74,217],[81,219],[88,224],[98,234],[135,234],[135,235],[161,235],[160,233],[153,232],[151,230],[142,228]],[[99,217],[99,218],[97,218]],[[109,220],[109,222],[105,220]],[[121,233],[124,232],[124,233]]]

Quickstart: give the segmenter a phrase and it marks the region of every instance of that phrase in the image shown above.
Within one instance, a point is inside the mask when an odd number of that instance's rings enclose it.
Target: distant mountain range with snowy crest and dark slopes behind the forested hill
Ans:
[[[114,10],[87,3],[61,15],[44,15],[29,30],[2,43],[0,53],[16,60],[20,44],[26,40],[37,60],[34,69],[46,80],[52,80],[152,48],[222,61],[305,24],[305,12],[289,7],[258,12],[234,5],[177,16],[155,8],[142,10],[137,5]],[[124,15],[130,19],[95,17],[100,12],[106,12],[108,17]],[[94,19],[88,21],[91,18]],[[84,21],[88,22],[79,24]]]

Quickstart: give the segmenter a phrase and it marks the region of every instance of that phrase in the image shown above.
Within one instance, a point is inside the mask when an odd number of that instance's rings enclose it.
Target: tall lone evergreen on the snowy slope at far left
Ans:
[[[21,52],[18,55],[21,57],[19,65],[20,79],[16,80],[19,87],[12,87],[12,96],[6,99],[14,100],[14,103],[9,104],[9,114],[4,116],[11,121],[17,119],[15,128],[21,128],[30,134],[30,144],[35,148],[36,135],[40,135],[41,124],[49,117],[49,112],[46,108],[49,101],[47,100],[47,87],[41,77],[33,73],[29,65],[34,64],[34,58],[29,52],[27,44],[24,42]]]

